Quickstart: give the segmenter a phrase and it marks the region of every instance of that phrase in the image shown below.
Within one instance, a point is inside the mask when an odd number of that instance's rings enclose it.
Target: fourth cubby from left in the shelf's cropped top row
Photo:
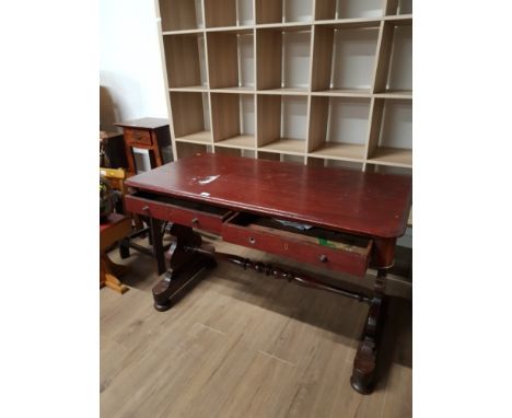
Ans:
[[[392,0],[393,1],[393,0]],[[382,0],[316,0],[315,20],[380,18]]]

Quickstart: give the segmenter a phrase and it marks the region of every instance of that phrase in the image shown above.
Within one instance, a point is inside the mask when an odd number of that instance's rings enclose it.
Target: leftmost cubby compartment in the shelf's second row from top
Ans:
[[[165,35],[163,42],[168,88],[207,90],[205,36]]]

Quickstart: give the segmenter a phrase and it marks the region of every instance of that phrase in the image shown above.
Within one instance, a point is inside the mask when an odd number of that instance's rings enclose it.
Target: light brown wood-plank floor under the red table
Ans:
[[[366,305],[220,264],[160,313],[152,259],[123,263],[130,290],[100,292],[103,418],[411,416],[406,299],[391,298],[382,378],[362,396],[349,378]]]

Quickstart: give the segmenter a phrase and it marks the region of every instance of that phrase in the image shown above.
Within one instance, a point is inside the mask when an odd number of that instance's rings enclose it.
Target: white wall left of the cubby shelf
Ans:
[[[103,130],[117,130],[115,121],[168,117],[155,16],[153,0],[100,0]]]

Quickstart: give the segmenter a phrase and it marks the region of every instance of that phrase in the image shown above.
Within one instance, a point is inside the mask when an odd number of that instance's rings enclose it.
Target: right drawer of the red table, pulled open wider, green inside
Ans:
[[[293,258],[298,262],[362,277],[372,240],[319,228],[299,231],[271,218],[240,212],[224,222],[226,242]]]

